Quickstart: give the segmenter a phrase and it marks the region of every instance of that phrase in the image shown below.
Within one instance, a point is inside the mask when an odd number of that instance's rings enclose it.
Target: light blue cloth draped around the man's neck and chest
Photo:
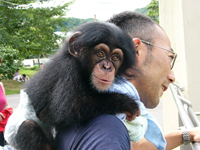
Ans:
[[[165,150],[166,141],[162,134],[161,128],[157,120],[151,114],[149,114],[144,104],[140,101],[139,94],[133,84],[126,79],[125,82],[116,80],[116,82],[110,87],[109,91],[126,94],[132,97],[138,103],[141,110],[141,115],[146,115],[148,121],[148,127],[144,137],[153,143],[158,150]],[[126,114],[117,114],[117,117],[121,120],[124,120],[126,118]]]

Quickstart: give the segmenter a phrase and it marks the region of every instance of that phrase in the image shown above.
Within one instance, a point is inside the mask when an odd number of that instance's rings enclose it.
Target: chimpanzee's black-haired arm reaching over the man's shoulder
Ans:
[[[138,104],[134,99],[119,93],[99,93],[94,96],[90,103],[82,106],[78,115],[78,123],[90,120],[101,114],[129,113],[136,116],[139,112]],[[134,118],[134,117],[133,117]]]

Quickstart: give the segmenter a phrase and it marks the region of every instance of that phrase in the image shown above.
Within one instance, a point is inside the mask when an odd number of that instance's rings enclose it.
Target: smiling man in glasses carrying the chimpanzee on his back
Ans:
[[[168,89],[169,83],[175,81],[172,68],[176,54],[171,49],[169,38],[156,22],[140,13],[122,12],[111,18],[109,22],[115,23],[133,38],[137,51],[137,68],[141,71],[141,74],[139,74],[137,78],[129,79],[128,77],[125,77],[127,79],[126,83],[121,83],[119,86],[117,83],[113,85],[116,89],[121,90],[122,93],[127,93],[132,96],[136,95],[135,97],[140,96],[141,102],[139,104],[141,114],[146,115],[148,118],[148,128],[145,137],[137,143],[131,143],[131,149],[163,150],[173,149],[181,145],[183,143],[182,131],[177,130],[168,134],[162,134],[153,116],[146,111],[146,108],[155,108],[158,105],[159,98],[163,95],[163,92]],[[133,94],[130,92],[133,92]],[[113,118],[115,118],[115,116],[113,116]],[[93,126],[86,125],[81,128],[81,130],[64,129],[59,131],[56,138],[56,145],[62,145],[62,148],[59,147],[59,150],[64,149],[63,147],[66,145],[72,147],[71,145],[73,144],[73,147],[79,147],[79,149],[84,149],[84,145],[91,145],[91,147],[89,146],[87,149],[102,149],[99,147],[99,143],[101,143],[101,146],[107,145],[107,149],[129,149],[126,140],[130,139],[127,139],[126,136],[124,136],[124,134],[127,135],[127,131],[125,131],[121,137],[119,134],[115,134],[118,131],[120,134],[124,131],[123,125],[120,126],[117,122],[112,124],[113,120],[111,121],[108,117],[101,121],[99,121],[98,118],[95,118],[91,122],[94,124]],[[106,126],[98,126],[100,123],[105,124],[105,122],[113,127],[110,128],[109,126],[107,128]],[[115,125],[118,126],[118,129],[122,128],[123,130],[120,129],[117,131]],[[153,128],[155,129],[153,130]],[[95,132],[96,130],[101,134]],[[90,135],[86,136],[90,138],[86,140],[87,138],[84,138],[82,133],[84,133],[84,136]],[[102,134],[104,135],[103,138]],[[113,137],[115,137],[114,140],[110,134],[113,134]],[[198,128],[188,131],[188,134],[191,142],[200,141],[200,130]],[[70,142],[65,144],[68,140]],[[83,143],[81,142],[82,140],[84,141]],[[120,146],[123,144],[123,142],[121,143],[122,140],[126,141],[124,144],[127,144],[125,146],[127,148],[122,148],[122,146]],[[110,141],[112,141],[112,144],[109,143]],[[117,148],[112,148],[113,141],[118,143]]]

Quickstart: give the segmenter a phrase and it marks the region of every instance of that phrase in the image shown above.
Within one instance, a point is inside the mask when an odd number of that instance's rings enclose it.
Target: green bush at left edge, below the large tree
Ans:
[[[12,79],[13,74],[17,68],[21,65],[21,61],[15,62],[15,59],[19,58],[19,51],[13,49],[11,46],[0,45],[0,57],[2,64],[0,67],[0,80]]]

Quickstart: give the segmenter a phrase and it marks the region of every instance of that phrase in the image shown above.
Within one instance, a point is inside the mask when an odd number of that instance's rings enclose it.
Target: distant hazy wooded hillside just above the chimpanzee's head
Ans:
[[[72,30],[74,30],[74,28],[76,26],[79,26],[79,25],[81,25],[83,23],[87,23],[87,22],[93,22],[93,21],[94,21],[93,18],[79,19],[79,18],[69,17],[69,18],[64,19],[63,25],[66,26],[68,31],[72,31]],[[58,27],[57,31],[62,31],[61,27]]]

